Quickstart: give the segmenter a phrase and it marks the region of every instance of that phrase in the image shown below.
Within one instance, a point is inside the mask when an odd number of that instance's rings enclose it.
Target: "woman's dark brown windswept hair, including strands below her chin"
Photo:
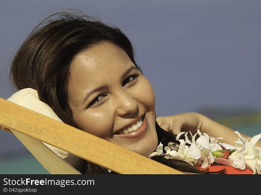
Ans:
[[[39,99],[48,104],[64,123],[80,129],[67,102],[69,67],[76,54],[102,41],[113,42],[125,50],[142,73],[134,60],[130,40],[119,28],[108,26],[82,13],[59,12],[43,20],[23,42],[13,58],[10,79],[17,90],[37,90]],[[167,133],[157,123],[155,125],[159,142],[166,145],[170,140],[175,141],[175,135]],[[152,159],[181,171],[202,173],[182,159]],[[85,173],[109,172],[87,162]]]

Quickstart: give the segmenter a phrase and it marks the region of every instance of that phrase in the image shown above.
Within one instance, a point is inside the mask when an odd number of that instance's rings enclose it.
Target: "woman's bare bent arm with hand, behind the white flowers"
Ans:
[[[182,131],[191,131],[194,135],[197,130],[200,129],[200,132],[207,133],[211,137],[223,137],[222,142],[230,145],[235,145],[235,141],[238,139],[238,135],[234,133],[235,130],[219,124],[197,112],[161,116],[157,117],[156,121],[161,128],[174,134],[178,134]],[[240,134],[244,138],[250,137],[242,133]],[[261,147],[261,140],[259,140],[255,146]]]

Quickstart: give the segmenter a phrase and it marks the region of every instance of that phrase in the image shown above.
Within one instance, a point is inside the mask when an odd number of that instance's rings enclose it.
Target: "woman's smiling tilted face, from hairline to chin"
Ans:
[[[101,42],[74,57],[68,101],[82,130],[144,156],[157,147],[153,88],[119,46]]]

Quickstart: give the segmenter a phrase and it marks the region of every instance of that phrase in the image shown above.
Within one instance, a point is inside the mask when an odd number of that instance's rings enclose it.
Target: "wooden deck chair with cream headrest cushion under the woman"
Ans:
[[[61,119],[47,104],[39,100],[37,91],[31,88],[16,92],[8,101],[0,98],[0,109],[0,128],[11,130],[51,174],[79,174],[78,170],[82,168],[83,159],[120,174],[184,174],[60,123]]]

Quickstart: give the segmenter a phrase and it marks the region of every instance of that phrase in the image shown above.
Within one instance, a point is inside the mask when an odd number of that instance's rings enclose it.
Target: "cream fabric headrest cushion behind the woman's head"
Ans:
[[[7,100],[9,102],[13,102],[20,106],[26,107],[27,109],[33,110],[35,112],[38,112],[42,115],[53,118],[53,119],[63,123],[63,121],[55,114],[55,112],[52,110],[52,108],[50,106],[48,106],[47,104],[45,104],[44,102],[42,102],[38,98],[37,91],[32,88],[21,89],[20,91],[17,91],[16,93],[14,93]],[[44,143],[44,144],[48,148],[50,148],[53,152],[55,152],[58,156],[60,156],[65,161],[67,161],[69,164],[71,164],[77,170],[81,170],[83,168],[83,166],[84,166],[83,159],[81,159],[77,156],[74,156],[64,150],[53,147],[47,143]]]

